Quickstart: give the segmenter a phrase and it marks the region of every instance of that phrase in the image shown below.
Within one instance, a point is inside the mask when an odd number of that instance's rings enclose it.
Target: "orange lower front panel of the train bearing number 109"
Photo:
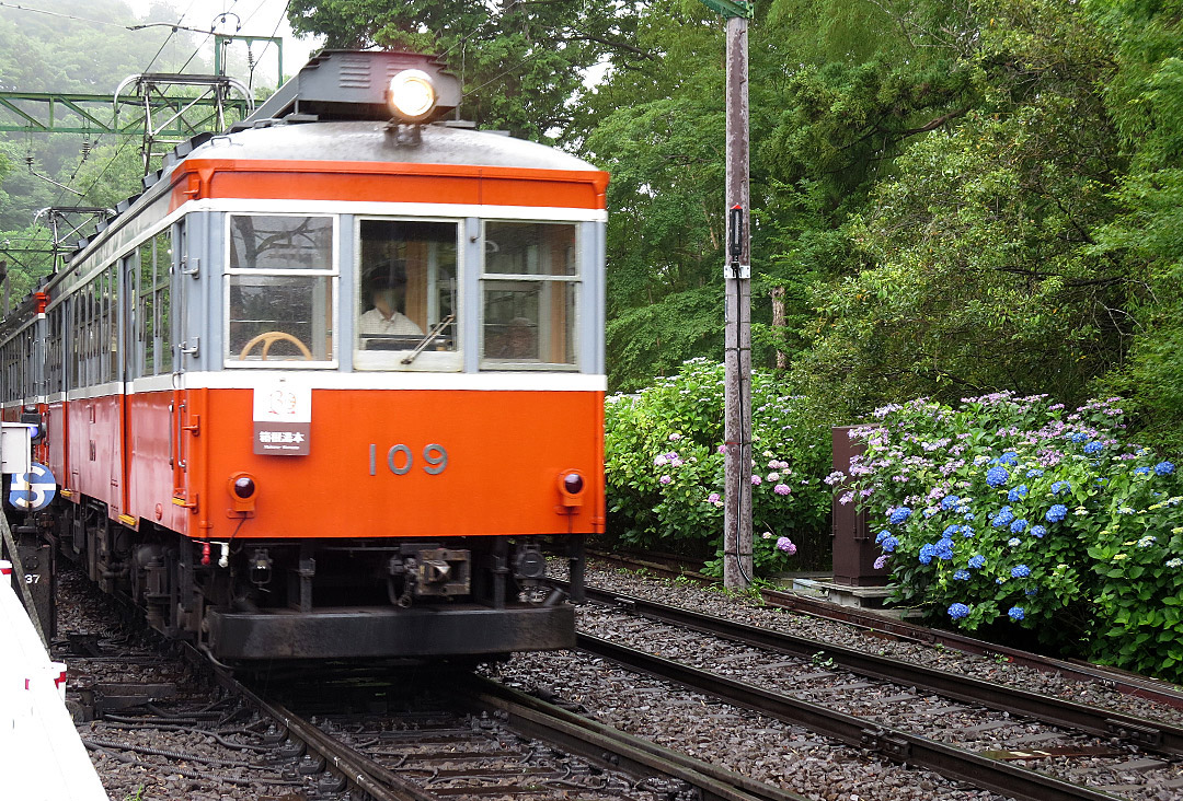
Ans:
[[[306,456],[253,454],[251,390],[206,392],[202,419],[212,422],[190,444],[209,436],[215,447],[198,467],[208,489],[190,536],[227,538],[238,528],[227,489],[238,473],[258,486],[256,517],[239,528],[241,539],[603,529],[602,392],[313,390]],[[447,454],[437,475],[428,468],[439,465],[425,460],[428,445]],[[439,452],[428,456],[439,461]],[[190,473],[199,464],[190,462]],[[567,470],[587,482],[570,516],[558,489]]]

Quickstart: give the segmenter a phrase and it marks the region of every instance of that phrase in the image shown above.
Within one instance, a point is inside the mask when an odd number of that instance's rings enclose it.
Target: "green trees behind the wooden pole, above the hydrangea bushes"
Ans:
[[[1179,4],[780,0],[751,27],[755,341],[793,391],[1131,398],[1183,441]],[[722,34],[649,2],[578,144],[613,171],[610,382],[720,347]],[[771,328],[770,294],[786,323]]]

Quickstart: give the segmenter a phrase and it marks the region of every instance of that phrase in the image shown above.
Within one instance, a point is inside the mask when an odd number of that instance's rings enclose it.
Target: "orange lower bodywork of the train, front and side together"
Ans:
[[[170,463],[172,395],[127,396],[128,460],[118,397],[71,400],[70,436],[57,425],[50,431],[51,442],[69,442],[69,468],[57,455],[49,467],[65,488],[105,502],[112,519],[122,513],[196,539],[603,530],[602,392],[313,390],[306,456],[253,452],[251,390],[182,392],[182,422],[198,429],[182,431],[181,487],[174,487]],[[53,405],[51,421],[64,419],[60,409]],[[447,454],[438,474],[426,469],[439,467],[426,461],[428,445]],[[438,461],[439,451],[428,456]],[[570,470],[584,477],[586,489],[568,514],[558,481]],[[256,512],[241,527],[227,489],[238,473],[251,474],[259,488]]]

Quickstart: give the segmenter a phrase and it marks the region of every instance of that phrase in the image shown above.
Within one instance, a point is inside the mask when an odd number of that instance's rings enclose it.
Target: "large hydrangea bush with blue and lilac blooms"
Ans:
[[[839,501],[860,502],[898,600],[969,631],[1183,679],[1183,487],[1125,442],[1118,398],[994,393],[875,410]]]

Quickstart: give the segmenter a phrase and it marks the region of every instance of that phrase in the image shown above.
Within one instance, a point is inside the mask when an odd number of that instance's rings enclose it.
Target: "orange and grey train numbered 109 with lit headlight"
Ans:
[[[179,148],[0,326],[28,522],[227,662],[574,643],[544,540],[603,528],[605,190],[327,51]],[[28,530],[27,528],[25,530]]]

